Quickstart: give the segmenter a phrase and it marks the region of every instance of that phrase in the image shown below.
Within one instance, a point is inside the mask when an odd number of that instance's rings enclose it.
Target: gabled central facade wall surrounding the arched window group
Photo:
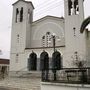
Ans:
[[[42,36],[46,32],[51,32],[51,34],[55,33],[56,36],[60,37],[61,40],[58,42],[58,46],[65,45],[64,37],[62,38],[64,34],[64,19],[46,16],[32,24],[31,48],[42,47]]]

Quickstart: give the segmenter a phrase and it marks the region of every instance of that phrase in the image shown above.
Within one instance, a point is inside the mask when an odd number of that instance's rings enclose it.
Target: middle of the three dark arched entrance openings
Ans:
[[[46,51],[43,51],[40,54],[40,70],[48,70],[49,69],[49,56]]]

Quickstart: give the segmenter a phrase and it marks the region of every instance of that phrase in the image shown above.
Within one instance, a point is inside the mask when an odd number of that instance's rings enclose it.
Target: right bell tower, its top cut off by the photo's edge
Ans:
[[[85,33],[80,34],[80,26],[84,20],[83,2],[84,0],[64,0],[66,46],[64,64],[71,67],[75,52],[79,57],[86,58]]]

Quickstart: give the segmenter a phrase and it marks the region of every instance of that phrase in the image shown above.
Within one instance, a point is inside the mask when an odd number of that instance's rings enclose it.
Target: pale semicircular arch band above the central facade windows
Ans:
[[[52,27],[48,27],[52,25]],[[44,31],[43,28],[45,29]],[[57,32],[55,32],[55,30]],[[54,22],[46,22],[46,23],[42,23],[41,25],[39,25],[39,27],[36,29],[36,31],[34,32],[34,35],[33,35],[33,39],[41,39],[41,36],[45,35],[46,32],[50,32],[51,34],[52,33],[56,33],[56,35],[58,36],[64,36],[64,29],[62,26],[60,26],[60,24],[57,24],[57,23],[54,23]],[[41,34],[41,35],[40,35]]]

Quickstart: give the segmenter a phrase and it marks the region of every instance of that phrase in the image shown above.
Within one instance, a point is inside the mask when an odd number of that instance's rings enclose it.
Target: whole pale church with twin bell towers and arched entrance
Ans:
[[[48,53],[51,66],[54,50],[61,54],[63,68],[76,67],[75,60],[85,61],[85,65],[90,66],[90,33],[88,30],[80,33],[83,3],[84,0],[64,0],[64,18],[45,16],[33,21],[32,2],[16,1],[13,4],[10,71],[28,71],[32,53],[35,60],[31,69],[40,70],[43,51]]]

